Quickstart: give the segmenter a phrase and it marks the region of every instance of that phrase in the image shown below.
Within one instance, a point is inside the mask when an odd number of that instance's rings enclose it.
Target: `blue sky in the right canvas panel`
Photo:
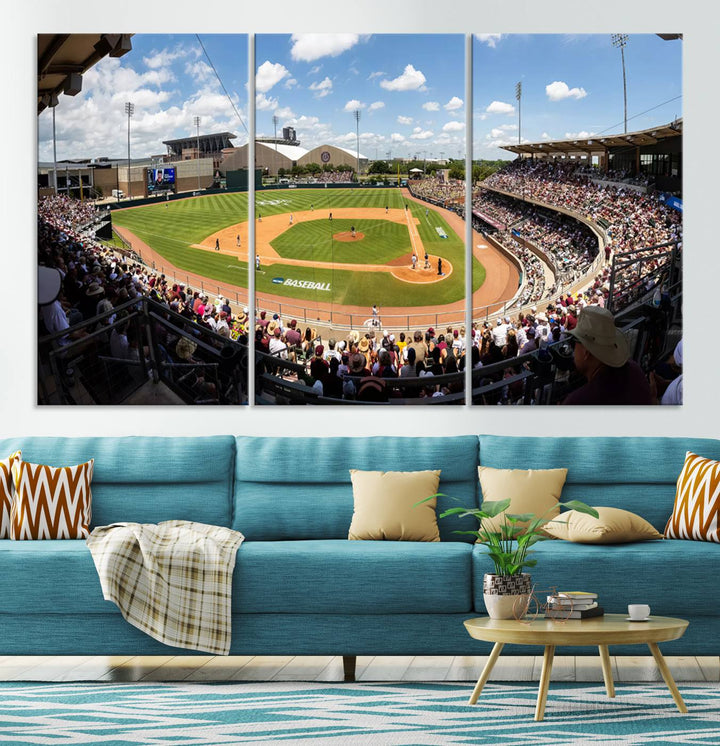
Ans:
[[[628,35],[628,132],[682,116],[683,43],[657,34]],[[622,62],[610,34],[476,35],[475,158],[513,157],[500,145],[518,141],[518,81],[524,141],[623,132]]]

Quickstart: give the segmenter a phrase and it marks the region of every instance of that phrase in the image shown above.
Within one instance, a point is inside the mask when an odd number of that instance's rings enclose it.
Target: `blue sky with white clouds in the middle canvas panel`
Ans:
[[[294,126],[305,148],[368,158],[460,157],[465,46],[460,34],[272,34],[255,42],[258,135]]]

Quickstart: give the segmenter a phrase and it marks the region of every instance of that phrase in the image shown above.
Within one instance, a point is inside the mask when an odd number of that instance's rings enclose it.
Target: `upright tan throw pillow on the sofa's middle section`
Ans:
[[[350,469],[355,512],[348,539],[440,541],[435,504],[440,471]]]

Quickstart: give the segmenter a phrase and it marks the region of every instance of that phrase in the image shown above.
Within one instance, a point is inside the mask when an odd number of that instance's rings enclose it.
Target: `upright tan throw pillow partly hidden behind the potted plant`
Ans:
[[[482,502],[497,502],[510,498],[506,512],[534,513],[538,518],[554,518],[560,513],[560,493],[567,469],[493,469],[478,466]],[[482,522],[485,531],[500,531],[503,513]],[[527,526],[527,523],[518,523]]]

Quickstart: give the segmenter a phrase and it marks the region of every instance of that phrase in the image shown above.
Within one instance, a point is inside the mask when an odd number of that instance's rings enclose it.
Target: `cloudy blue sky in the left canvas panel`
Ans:
[[[202,34],[200,41],[247,126],[246,35]],[[124,57],[106,57],[83,76],[77,96],[60,96],[55,113],[57,157],[125,157],[125,102],[135,104],[130,124],[133,158],[165,152],[163,140],[200,132],[232,132],[235,145],[245,129],[194,34],[135,34]],[[52,160],[52,114],[38,117],[38,160]]]

